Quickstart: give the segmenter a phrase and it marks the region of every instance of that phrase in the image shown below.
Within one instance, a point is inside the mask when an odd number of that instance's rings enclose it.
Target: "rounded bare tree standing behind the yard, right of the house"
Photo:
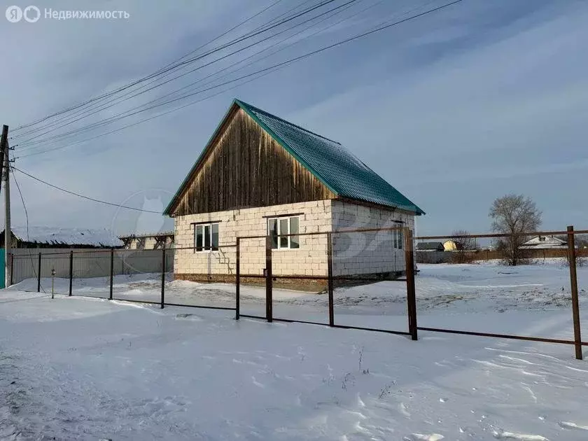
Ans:
[[[508,265],[517,265],[523,257],[520,246],[528,240],[524,232],[539,228],[541,211],[530,197],[511,194],[494,200],[489,216],[494,232],[509,235],[496,241],[498,249],[503,251]]]

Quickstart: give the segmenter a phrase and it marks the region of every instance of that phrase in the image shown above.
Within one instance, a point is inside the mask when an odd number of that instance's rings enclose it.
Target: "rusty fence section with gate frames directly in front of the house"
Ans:
[[[295,237],[300,249],[290,248],[291,241],[285,237]],[[398,280],[406,268],[402,237],[402,228],[391,227],[241,238],[241,243],[258,241],[253,251],[241,246],[241,255],[259,253],[268,239],[270,244],[266,267],[272,263],[271,307],[258,308],[251,315],[407,335],[407,289],[405,279]],[[377,302],[372,295],[364,295],[366,287],[373,290],[374,286],[381,291]],[[258,295],[262,290],[258,289]],[[241,308],[251,310],[243,295]]]

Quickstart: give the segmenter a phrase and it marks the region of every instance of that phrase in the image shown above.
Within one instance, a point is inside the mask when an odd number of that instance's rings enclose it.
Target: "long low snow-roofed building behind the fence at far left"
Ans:
[[[4,246],[4,230],[0,232]],[[109,230],[61,227],[12,227],[13,248],[120,248],[123,241]]]

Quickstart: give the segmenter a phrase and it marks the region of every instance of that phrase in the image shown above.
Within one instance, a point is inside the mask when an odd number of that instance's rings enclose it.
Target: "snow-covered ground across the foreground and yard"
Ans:
[[[573,336],[559,261],[419,269],[421,326]],[[585,324],[588,269],[578,281]],[[159,283],[118,276],[114,297],[158,301]],[[0,440],[588,439],[588,362],[573,346],[422,331],[412,342],[91,298],[108,296],[107,279],[54,300],[27,290],[36,281],[0,291]],[[241,313],[265,314],[263,288],[241,297]],[[170,280],[166,301],[232,307],[235,288]],[[335,291],[339,324],[406,330],[405,311],[402,282]],[[326,323],[326,295],[274,290],[274,316]]]

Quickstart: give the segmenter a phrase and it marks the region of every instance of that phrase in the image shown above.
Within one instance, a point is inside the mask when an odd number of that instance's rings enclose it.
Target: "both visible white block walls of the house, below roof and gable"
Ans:
[[[300,214],[302,213],[302,214]],[[176,274],[235,274],[237,236],[267,234],[267,218],[300,214],[300,232],[329,232],[356,228],[386,228],[397,225],[414,230],[414,216],[349,202],[322,200],[194,214],[175,219]],[[195,253],[193,222],[220,221],[219,251]],[[395,223],[402,221],[402,224]],[[356,232],[333,235],[333,274],[355,275],[405,270],[404,244],[394,248],[393,232]],[[265,239],[241,239],[241,274],[263,274]],[[274,250],[272,270],[276,275],[327,275],[326,235],[301,236],[300,248]]]

